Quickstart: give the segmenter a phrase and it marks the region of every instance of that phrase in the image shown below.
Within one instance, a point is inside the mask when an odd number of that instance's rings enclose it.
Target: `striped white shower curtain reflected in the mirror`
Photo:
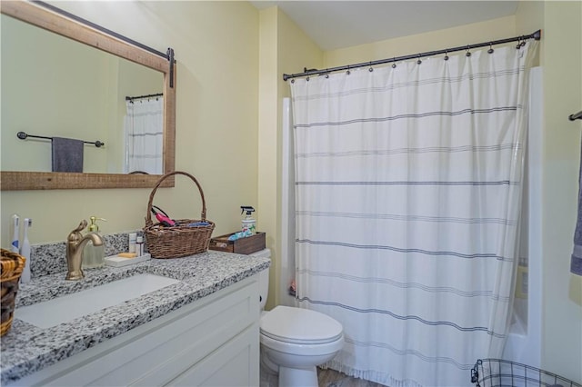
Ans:
[[[164,174],[164,98],[125,102],[125,173]]]

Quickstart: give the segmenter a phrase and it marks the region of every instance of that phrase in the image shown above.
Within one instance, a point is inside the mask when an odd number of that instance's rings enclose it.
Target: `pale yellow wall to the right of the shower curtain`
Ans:
[[[520,10],[521,11],[521,10]],[[528,4],[518,25],[541,21],[544,77],[542,368],[582,382],[582,277],[569,273],[582,124],[582,3]],[[520,30],[520,32],[523,30]]]

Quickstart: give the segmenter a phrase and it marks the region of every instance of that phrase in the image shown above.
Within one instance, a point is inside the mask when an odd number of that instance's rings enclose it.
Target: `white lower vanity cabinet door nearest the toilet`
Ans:
[[[180,374],[170,386],[241,387],[259,385],[258,323]]]

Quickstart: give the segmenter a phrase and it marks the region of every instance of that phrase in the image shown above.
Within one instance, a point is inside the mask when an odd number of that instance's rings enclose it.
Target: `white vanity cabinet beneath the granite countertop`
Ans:
[[[227,286],[12,385],[259,385],[258,276]]]

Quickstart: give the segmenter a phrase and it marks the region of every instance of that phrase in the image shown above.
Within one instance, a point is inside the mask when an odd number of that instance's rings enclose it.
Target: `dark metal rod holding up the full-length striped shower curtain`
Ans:
[[[516,37],[510,37],[507,39],[494,40],[491,42],[477,43],[476,45],[459,45],[458,47],[446,48],[444,50],[428,51],[426,53],[396,56],[394,58],[389,58],[389,59],[386,58],[386,59],[380,59],[380,60],[371,61],[371,62],[362,62],[362,63],[356,64],[356,65],[342,65],[342,66],[337,66],[337,67],[326,68],[324,70],[317,70],[317,69],[307,70],[307,69],[305,69],[305,71],[303,73],[283,74],[283,80],[286,81],[288,79],[293,79],[293,78],[297,78],[300,76],[314,75],[314,74],[316,74],[316,75],[329,74],[329,73],[332,73],[335,71],[349,70],[351,68],[357,68],[357,67],[366,67],[366,66],[371,66],[371,65],[384,65],[384,64],[391,63],[391,62],[406,61],[406,60],[410,60],[410,59],[422,58],[422,57],[432,56],[432,55],[441,55],[441,54],[447,55],[448,53],[454,53],[456,51],[463,51],[463,50],[467,50],[467,54],[470,55],[470,53],[468,53],[468,50],[470,50],[472,48],[487,47],[487,46],[492,46],[492,45],[503,45],[505,43],[526,41],[527,39],[539,40],[539,39],[541,39],[541,36],[542,36],[542,31],[537,30],[535,33],[530,34],[530,35],[521,35],[521,36],[516,36]]]

